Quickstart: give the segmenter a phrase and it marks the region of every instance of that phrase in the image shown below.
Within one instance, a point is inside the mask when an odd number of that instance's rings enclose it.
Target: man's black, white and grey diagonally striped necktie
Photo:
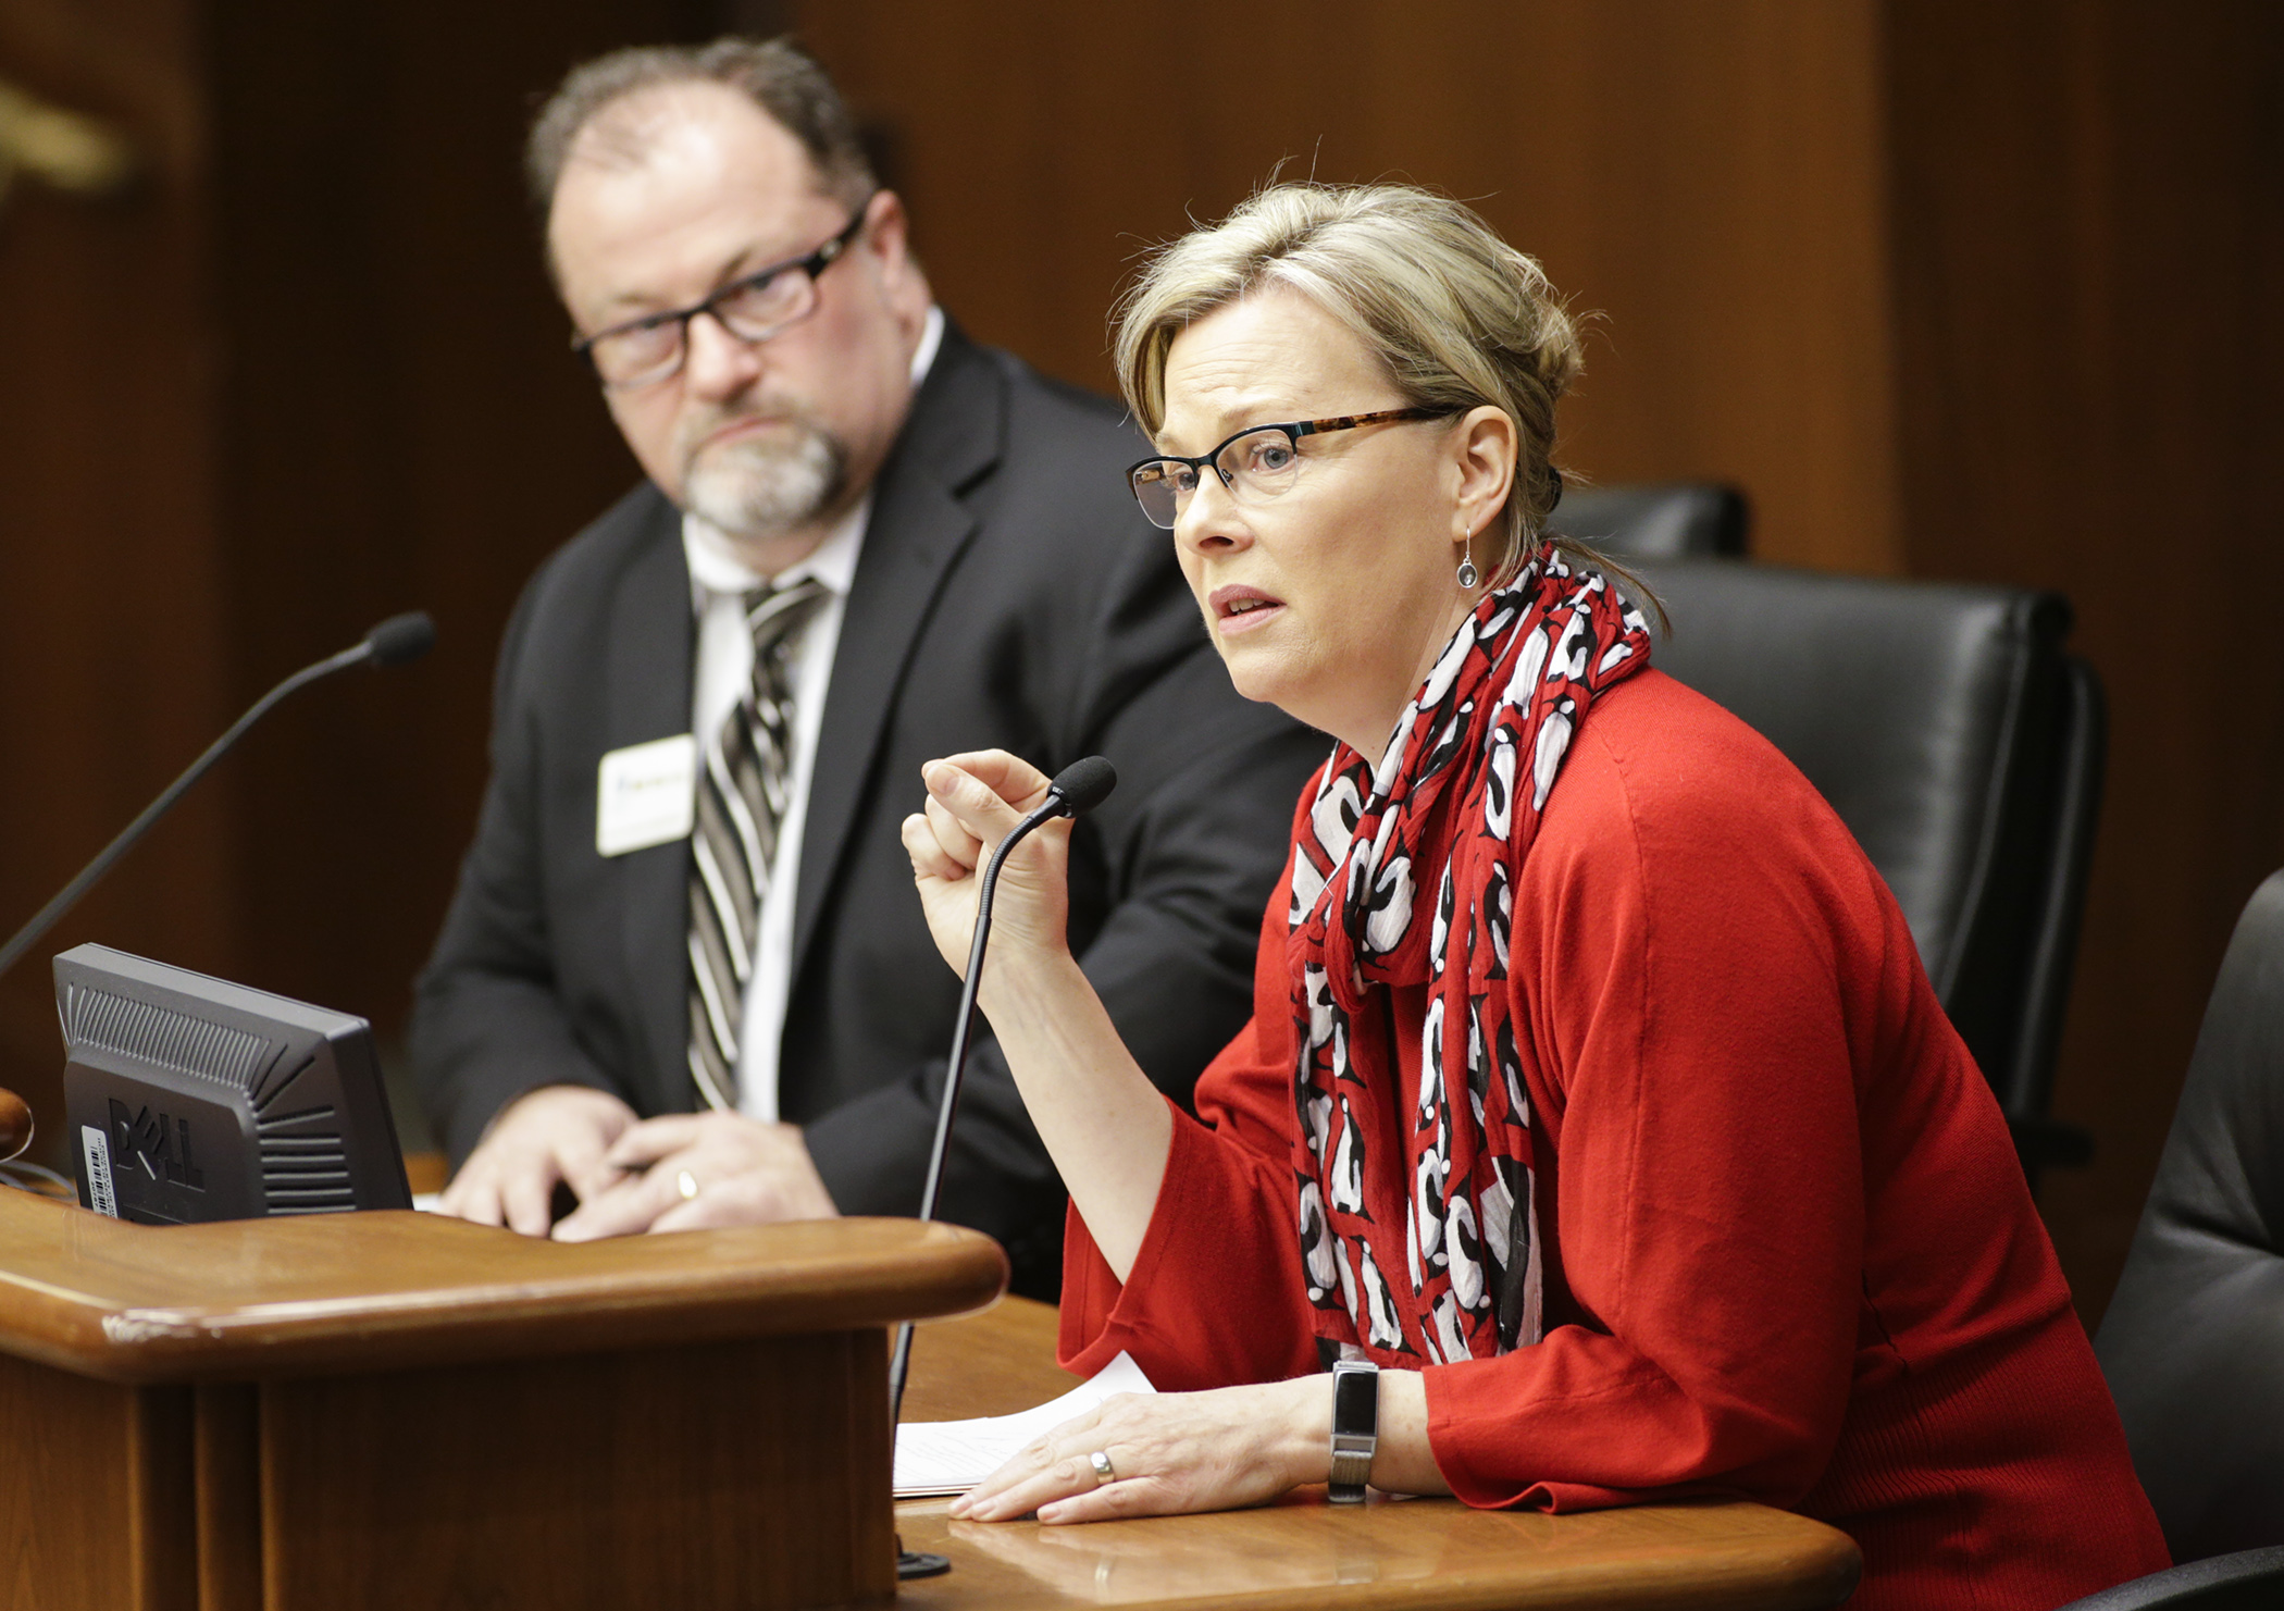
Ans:
[[[793,654],[825,603],[815,578],[745,594],[754,686],[706,745],[690,834],[690,1079],[706,1106],[738,1108],[738,1033],[761,951],[777,825],[793,786]]]

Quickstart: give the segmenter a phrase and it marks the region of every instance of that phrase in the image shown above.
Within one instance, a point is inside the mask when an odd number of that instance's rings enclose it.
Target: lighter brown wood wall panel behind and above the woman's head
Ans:
[[[1763,553],[1893,571],[1880,7],[788,7],[882,130],[973,334],[1108,388],[1133,256],[1270,174],[1475,201],[1599,315],[1597,480],[1722,475]]]

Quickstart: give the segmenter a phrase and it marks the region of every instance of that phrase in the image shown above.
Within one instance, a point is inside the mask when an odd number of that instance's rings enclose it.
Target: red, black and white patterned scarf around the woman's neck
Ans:
[[[1325,763],[1286,946],[1300,1243],[1325,1344],[1418,1366],[1539,1339],[1512,891],[1594,697],[1647,663],[1640,610],[1546,553],[1459,624],[1377,768],[1348,745]],[[1427,985],[1409,1104],[1391,985]]]

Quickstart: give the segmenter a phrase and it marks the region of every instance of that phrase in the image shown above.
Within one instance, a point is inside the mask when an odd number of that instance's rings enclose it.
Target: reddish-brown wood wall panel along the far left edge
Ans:
[[[190,0],[16,0],[0,75],[137,139],[135,197],[0,203],[0,930],[14,932],[228,720],[215,503],[212,169]],[[69,919],[231,971],[233,777]],[[0,980],[0,1083],[62,1136],[43,955]],[[50,1156],[55,1156],[50,1152]]]

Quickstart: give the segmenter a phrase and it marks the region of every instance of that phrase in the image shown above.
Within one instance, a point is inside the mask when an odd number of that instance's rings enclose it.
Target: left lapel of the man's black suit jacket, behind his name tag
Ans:
[[[653,532],[619,580],[608,656],[608,727],[603,752],[690,731],[690,676],[697,631],[690,617],[690,567],[681,516],[658,498]],[[690,841],[676,839],[617,859],[621,941],[635,1028],[630,1049],[649,1072],[644,1113],[681,1113],[692,1104],[690,1040]]]

